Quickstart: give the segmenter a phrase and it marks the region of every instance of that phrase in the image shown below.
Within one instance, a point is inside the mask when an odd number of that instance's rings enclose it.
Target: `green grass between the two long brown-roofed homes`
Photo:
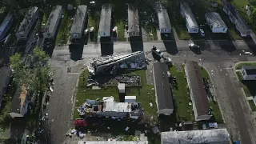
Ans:
[[[192,121],[194,122],[193,107],[189,105],[190,93],[188,90],[185,71],[177,70],[176,66],[170,68],[170,74],[177,78],[178,86],[173,88],[176,105],[176,118],[178,122]]]

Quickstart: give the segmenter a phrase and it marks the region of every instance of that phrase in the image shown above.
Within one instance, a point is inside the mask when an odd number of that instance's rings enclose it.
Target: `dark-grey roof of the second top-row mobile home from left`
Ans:
[[[18,27],[18,32],[17,33],[24,33],[24,31],[26,31],[26,29],[28,28],[30,22],[34,22],[32,21],[34,14],[36,14],[38,12],[38,7],[34,6],[32,7],[28,13],[26,14],[25,18],[23,18],[20,26]]]

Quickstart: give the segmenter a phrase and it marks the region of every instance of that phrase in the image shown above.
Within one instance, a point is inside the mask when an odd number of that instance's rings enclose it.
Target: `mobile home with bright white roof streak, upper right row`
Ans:
[[[190,6],[186,2],[180,4],[182,17],[186,21],[186,29],[189,33],[198,33],[199,27],[198,22],[194,18],[194,14],[190,9]]]

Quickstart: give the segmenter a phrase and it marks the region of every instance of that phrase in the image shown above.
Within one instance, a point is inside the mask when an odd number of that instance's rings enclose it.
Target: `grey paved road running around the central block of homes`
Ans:
[[[195,54],[188,48],[187,41],[169,42],[144,42],[130,44],[128,42],[114,43],[113,54],[127,54],[135,50],[144,50],[150,55],[152,46],[157,46],[164,51],[167,57],[173,59],[174,63],[181,63],[184,60],[194,60],[202,62],[208,70],[221,67],[232,67],[234,62],[255,60],[254,56],[244,54],[242,50],[250,51],[250,47],[245,42],[204,42],[202,54]],[[234,48],[232,48],[234,46]],[[230,50],[232,48],[232,51]],[[78,72],[89,64],[92,58],[102,54],[102,50],[110,47],[88,44],[83,47],[74,46],[76,50],[70,50],[69,46],[56,46],[51,57],[54,68],[54,94],[50,100],[49,117],[52,122],[52,141],[62,143],[65,139],[66,131],[69,129],[69,122],[72,110],[72,95],[74,94]],[[175,50],[176,49],[176,50]],[[234,50],[233,50],[234,49]],[[70,53],[71,52],[71,53]],[[231,53],[232,52],[232,53]],[[78,60],[81,59],[81,60]],[[75,60],[75,61],[74,61]],[[71,67],[71,73],[67,73],[67,67]],[[256,134],[250,111],[246,107],[245,98],[239,89],[238,82],[233,78],[232,70],[225,71],[226,74],[214,73],[211,75],[215,87],[220,107],[222,108],[226,126],[230,134],[236,139],[241,139],[243,143],[254,144]],[[223,73],[225,73],[223,70]],[[232,75],[233,73],[233,75]],[[236,82],[236,83],[235,83]],[[220,84],[219,84],[220,83]],[[223,86],[222,86],[223,85]]]

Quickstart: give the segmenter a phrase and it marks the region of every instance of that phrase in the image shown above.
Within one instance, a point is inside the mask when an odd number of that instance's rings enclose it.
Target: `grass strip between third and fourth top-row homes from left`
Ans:
[[[58,29],[58,34],[56,37],[56,45],[58,44],[66,44],[70,37],[70,29],[72,26],[72,20],[74,16],[74,10],[63,10],[64,18],[61,19],[61,24]]]

